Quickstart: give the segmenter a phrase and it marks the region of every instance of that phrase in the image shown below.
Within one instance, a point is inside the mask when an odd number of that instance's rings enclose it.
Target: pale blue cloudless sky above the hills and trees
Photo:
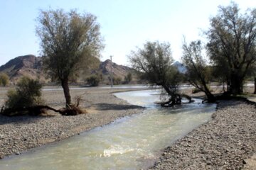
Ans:
[[[241,10],[255,0],[235,0]],[[40,10],[63,8],[92,13],[100,23],[105,49],[100,60],[129,66],[127,55],[146,41],[170,42],[174,60],[186,41],[203,38],[209,19],[229,0],[0,0],[0,65],[21,55],[41,55],[36,36]]]

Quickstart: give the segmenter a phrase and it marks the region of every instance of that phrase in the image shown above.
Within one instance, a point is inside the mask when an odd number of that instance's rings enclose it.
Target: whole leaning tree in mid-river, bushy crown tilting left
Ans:
[[[146,42],[144,48],[132,51],[129,60],[140,73],[140,79],[161,86],[169,94],[169,101],[163,105],[181,103],[181,95],[178,94],[180,77],[176,67],[171,65],[174,60],[169,43]]]

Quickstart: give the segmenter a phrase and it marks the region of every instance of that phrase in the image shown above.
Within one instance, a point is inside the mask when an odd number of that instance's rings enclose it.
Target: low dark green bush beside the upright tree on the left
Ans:
[[[7,92],[6,108],[23,108],[42,103],[41,88],[39,81],[22,77],[16,89]]]

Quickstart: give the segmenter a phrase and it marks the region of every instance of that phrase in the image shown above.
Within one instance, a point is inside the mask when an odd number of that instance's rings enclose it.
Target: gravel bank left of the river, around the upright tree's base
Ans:
[[[117,118],[141,113],[143,108],[132,106],[112,95],[114,92],[141,89],[79,89],[71,90],[73,98],[81,96],[80,106],[87,113],[61,116],[50,112],[42,116],[6,117],[0,115],[0,158],[21,154],[27,149],[63,140],[86,130],[111,123]],[[0,94],[1,105],[5,94]],[[43,91],[46,104],[54,108],[65,106],[63,91]]]

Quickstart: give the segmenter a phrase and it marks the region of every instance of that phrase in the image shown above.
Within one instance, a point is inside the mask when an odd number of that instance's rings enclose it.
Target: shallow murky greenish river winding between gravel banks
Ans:
[[[67,140],[0,160],[0,169],[142,169],[154,163],[161,149],[210,120],[215,104],[183,104],[161,108],[159,91],[114,94],[144,106],[143,113],[121,118]]]

